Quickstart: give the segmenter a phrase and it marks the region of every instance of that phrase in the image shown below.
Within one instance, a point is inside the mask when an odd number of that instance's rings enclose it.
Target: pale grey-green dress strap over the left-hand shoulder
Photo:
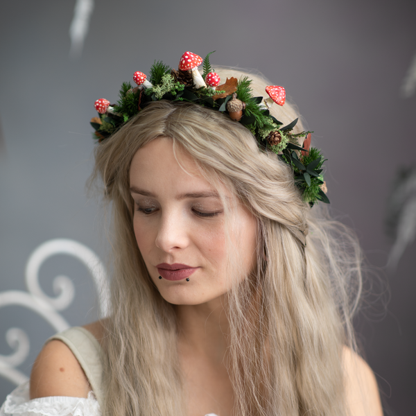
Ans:
[[[51,336],[51,340],[60,340],[67,345],[80,363],[85,376],[92,387],[92,391],[100,404],[103,406],[103,362],[104,352],[94,335],[83,327],[73,327],[66,331]]]

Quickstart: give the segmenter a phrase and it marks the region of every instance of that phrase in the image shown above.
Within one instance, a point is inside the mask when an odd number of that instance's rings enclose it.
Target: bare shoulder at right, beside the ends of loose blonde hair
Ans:
[[[348,347],[343,349],[347,405],[354,416],[382,416],[379,387],[370,366]]]

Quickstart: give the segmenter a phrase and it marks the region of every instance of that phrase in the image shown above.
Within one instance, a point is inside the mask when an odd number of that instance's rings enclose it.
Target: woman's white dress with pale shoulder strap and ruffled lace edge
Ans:
[[[101,381],[103,350],[92,333],[82,327],[73,327],[49,340],[61,340],[76,356],[92,387],[87,399],[82,397],[41,397],[30,399],[29,382],[19,385],[0,408],[0,416],[101,416],[103,403]],[[205,416],[217,416],[209,413]]]

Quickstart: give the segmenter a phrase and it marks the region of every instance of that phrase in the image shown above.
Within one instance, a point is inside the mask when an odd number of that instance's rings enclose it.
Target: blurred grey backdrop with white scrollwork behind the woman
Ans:
[[[105,221],[85,188],[94,101],[154,60],[216,50],[214,68],[283,85],[314,130],[331,214],[372,265],[363,354],[385,413],[414,415],[415,16],[413,0],[2,1],[0,403],[46,338],[105,311]]]

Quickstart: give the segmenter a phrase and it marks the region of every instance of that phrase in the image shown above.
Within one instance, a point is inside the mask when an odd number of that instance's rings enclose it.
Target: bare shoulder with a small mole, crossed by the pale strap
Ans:
[[[101,343],[103,322],[84,326]],[[87,397],[91,386],[71,349],[60,340],[44,345],[33,364],[31,374],[31,399],[49,396]]]

